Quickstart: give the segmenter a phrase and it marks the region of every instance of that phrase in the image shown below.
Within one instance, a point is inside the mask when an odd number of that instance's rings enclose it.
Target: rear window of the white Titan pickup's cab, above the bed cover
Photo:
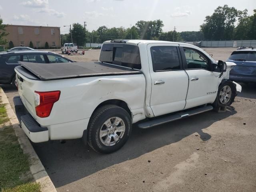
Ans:
[[[106,43],[100,52],[100,61],[119,66],[141,69],[140,50],[129,44]]]

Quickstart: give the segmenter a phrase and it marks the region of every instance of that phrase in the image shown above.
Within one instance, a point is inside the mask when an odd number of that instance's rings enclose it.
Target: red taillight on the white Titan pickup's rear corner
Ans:
[[[34,102],[36,115],[38,117],[48,117],[53,104],[60,98],[60,91],[34,92]]]

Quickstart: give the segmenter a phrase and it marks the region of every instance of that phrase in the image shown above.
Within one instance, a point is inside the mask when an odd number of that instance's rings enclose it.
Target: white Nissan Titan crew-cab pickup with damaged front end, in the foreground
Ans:
[[[191,44],[112,40],[99,62],[15,68],[20,126],[32,142],[82,138],[110,153],[139,128],[230,105],[241,86],[228,80],[232,62],[216,62]]]

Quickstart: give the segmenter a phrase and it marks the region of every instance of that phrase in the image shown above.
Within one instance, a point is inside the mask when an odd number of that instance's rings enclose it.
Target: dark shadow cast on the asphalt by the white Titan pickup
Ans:
[[[162,126],[142,130],[133,126],[132,135],[123,148],[112,154],[98,154],[84,146],[82,140],[67,140],[33,143],[42,164],[46,168],[55,187],[64,186],[114,164],[137,158],[143,154],[161,148],[198,133],[203,141],[211,135],[203,131],[216,121],[236,114],[232,108],[225,113],[205,112],[170,122]]]

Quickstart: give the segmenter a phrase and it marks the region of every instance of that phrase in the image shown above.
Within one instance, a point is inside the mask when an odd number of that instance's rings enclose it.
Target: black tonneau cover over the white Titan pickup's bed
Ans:
[[[40,80],[76,77],[140,74],[141,71],[102,62],[30,63],[19,62]]]

